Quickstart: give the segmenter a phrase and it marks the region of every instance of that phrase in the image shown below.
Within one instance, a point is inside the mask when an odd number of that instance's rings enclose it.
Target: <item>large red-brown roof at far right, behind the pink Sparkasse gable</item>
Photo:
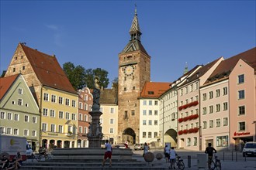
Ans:
[[[240,53],[236,56],[223,60],[220,65],[216,67],[216,70],[214,70],[209,76],[204,85],[216,82],[218,80],[227,79],[239,59],[243,59],[246,63],[253,67],[256,73],[256,47],[254,47],[253,49],[249,49],[244,53]]]

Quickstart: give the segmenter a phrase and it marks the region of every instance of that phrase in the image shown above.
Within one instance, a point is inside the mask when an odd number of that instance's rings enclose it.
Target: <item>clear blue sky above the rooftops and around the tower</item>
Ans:
[[[102,68],[118,76],[118,54],[130,39],[134,4],[141,42],[151,56],[151,80],[172,82],[189,69],[256,46],[256,1],[3,1],[0,71],[19,42],[61,66]]]

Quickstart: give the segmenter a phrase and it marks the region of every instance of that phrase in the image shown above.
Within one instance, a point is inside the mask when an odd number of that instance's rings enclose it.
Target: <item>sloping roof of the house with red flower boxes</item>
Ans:
[[[220,57],[220,58],[221,58],[221,57]],[[182,85],[184,85],[184,84],[186,84],[186,83],[190,83],[190,82],[192,82],[192,81],[198,79],[200,76],[203,76],[210,68],[212,68],[212,66],[213,66],[217,61],[220,60],[220,58],[215,59],[213,62],[208,63],[208,64],[206,64],[205,66],[202,66],[201,68],[199,68],[199,70],[196,71],[195,73],[193,73],[192,76],[189,76],[189,77],[187,78],[187,80],[186,80]]]

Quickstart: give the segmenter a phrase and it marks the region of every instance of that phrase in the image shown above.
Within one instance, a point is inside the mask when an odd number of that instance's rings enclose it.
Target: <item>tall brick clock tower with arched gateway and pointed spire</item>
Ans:
[[[139,143],[140,92],[150,81],[150,56],[140,42],[137,9],[130,27],[130,41],[119,53],[118,142]]]

